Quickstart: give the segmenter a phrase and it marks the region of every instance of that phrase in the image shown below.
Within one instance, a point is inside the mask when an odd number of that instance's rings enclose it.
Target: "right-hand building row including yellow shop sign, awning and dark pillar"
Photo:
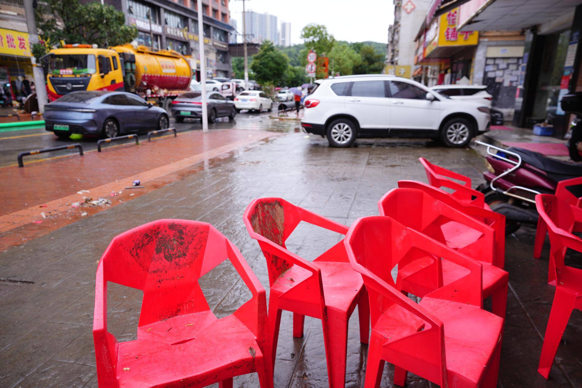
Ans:
[[[439,84],[487,86],[492,106],[520,127],[566,133],[563,95],[582,91],[581,0],[432,0],[416,37],[417,65]]]

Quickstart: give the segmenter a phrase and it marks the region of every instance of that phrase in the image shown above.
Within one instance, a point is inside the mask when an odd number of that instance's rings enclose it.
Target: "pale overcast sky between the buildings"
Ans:
[[[324,24],[337,40],[388,42],[388,26],[394,19],[391,0],[247,0],[246,10],[268,12],[291,23],[291,44],[303,43],[301,29],[306,24]],[[243,33],[243,2],[229,1],[230,17]],[[239,38],[242,41],[242,38]]]

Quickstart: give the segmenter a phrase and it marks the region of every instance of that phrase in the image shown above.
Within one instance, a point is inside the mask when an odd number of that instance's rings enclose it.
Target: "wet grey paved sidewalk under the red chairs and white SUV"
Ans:
[[[253,198],[282,197],[349,225],[377,215],[377,201],[399,179],[426,181],[419,156],[480,181],[482,159],[469,149],[445,149],[427,141],[359,140],[357,147],[333,149],[320,137],[289,133],[265,144],[211,159],[200,170],[81,219],[0,254],[0,386],[96,387],[93,351],[95,270],[111,239],[127,229],[162,218],[212,223],[242,251],[267,288],[265,259],[243,225]],[[288,247],[313,259],[338,241],[335,233],[301,224]],[[582,315],[574,311],[558,351],[558,364],[546,381],[537,373],[553,287],[546,283],[548,247],[531,258],[534,230],[520,229],[507,241],[510,274],[508,313],[499,386],[582,387]],[[579,259],[576,257],[575,259]],[[250,297],[234,269],[225,263],[201,279],[217,316],[235,311]],[[108,326],[119,341],[136,337],[141,293],[110,285]],[[349,325],[347,387],[363,387],[367,346],[359,342],[357,314]],[[387,365],[382,387],[392,386]],[[307,318],[304,337],[292,337],[283,312],[275,364],[275,387],[327,387],[321,323]],[[235,386],[258,387],[255,376]],[[410,376],[409,387],[434,386]]]

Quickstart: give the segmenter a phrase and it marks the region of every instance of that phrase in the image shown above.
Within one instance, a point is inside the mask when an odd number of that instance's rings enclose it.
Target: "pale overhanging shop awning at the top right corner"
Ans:
[[[570,12],[581,0],[487,0],[457,30],[517,31],[537,26]]]

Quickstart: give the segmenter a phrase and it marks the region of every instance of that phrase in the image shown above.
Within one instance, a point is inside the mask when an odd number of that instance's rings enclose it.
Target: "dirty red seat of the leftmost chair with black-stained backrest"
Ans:
[[[237,374],[250,373],[256,367],[255,358],[262,358],[254,334],[233,315],[222,319],[211,312],[176,316],[141,326],[137,337],[119,343],[119,386],[174,382],[204,387],[216,380],[223,366],[237,369]]]

